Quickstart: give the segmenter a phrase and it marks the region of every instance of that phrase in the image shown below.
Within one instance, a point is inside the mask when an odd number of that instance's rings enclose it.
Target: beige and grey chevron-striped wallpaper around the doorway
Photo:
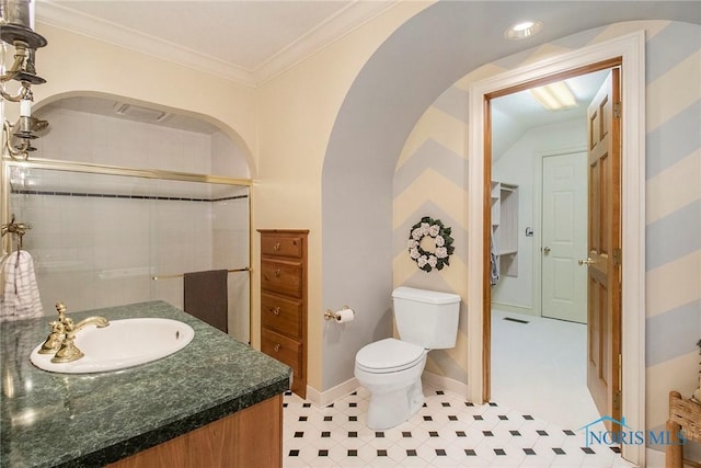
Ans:
[[[446,90],[407,138],[393,180],[394,286],[467,297],[467,130],[471,82],[633,31],[646,33],[646,377],[647,426],[667,419],[667,393],[698,386],[701,339],[701,27],[624,22],[585,31],[485,65]],[[406,252],[422,216],[452,227],[450,266],[425,273]],[[458,345],[435,351],[427,369],[467,383],[467,322]]]

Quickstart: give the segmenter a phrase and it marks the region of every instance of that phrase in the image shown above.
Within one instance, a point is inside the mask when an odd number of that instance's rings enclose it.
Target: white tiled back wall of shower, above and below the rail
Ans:
[[[89,113],[56,110],[43,116],[51,132],[42,138],[42,157],[133,168],[209,173],[207,135]],[[71,173],[44,171],[38,186],[84,186]],[[53,182],[50,181],[53,180]],[[72,182],[72,183],[71,183]],[[122,186],[120,186],[122,185]],[[187,184],[181,184],[187,185]],[[110,180],[117,193],[172,191],[177,183],[131,178]],[[102,184],[107,189],[106,184]],[[88,189],[88,187],[84,187]],[[90,187],[94,191],[95,187]],[[195,190],[198,193],[192,193]],[[207,196],[207,189],[183,186],[179,193]],[[183,304],[182,279],[150,279],[151,272],[181,274],[207,270],[211,259],[210,207],[194,202],[43,196],[48,209],[30,208],[36,230],[39,287],[46,313],[64,300],[71,310],[159,298]],[[26,198],[30,207],[36,205]],[[31,213],[31,212],[36,213]],[[56,215],[59,214],[57,222]],[[39,246],[44,246],[44,250]],[[110,246],[105,248],[105,246]],[[43,263],[43,265],[42,265]]]

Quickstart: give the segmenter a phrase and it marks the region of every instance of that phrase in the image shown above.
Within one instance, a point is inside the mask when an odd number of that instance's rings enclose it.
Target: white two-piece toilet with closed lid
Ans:
[[[393,427],[418,411],[428,351],[453,347],[458,338],[457,294],[398,287],[392,299],[401,340],[370,343],[355,356],[355,377],[370,392],[367,424],[372,430]]]

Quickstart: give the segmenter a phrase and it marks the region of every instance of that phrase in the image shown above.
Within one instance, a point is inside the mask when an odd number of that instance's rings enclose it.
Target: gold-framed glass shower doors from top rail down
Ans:
[[[183,274],[230,270],[229,330],[250,339],[249,186],[225,178],[73,163],[5,162],[9,210],[32,226],[46,315],[161,299]]]

